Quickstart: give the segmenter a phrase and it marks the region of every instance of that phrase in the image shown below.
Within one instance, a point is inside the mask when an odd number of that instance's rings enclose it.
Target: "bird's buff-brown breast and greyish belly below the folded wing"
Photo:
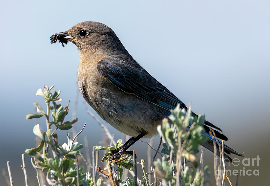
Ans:
[[[78,85],[86,102],[101,118],[133,137],[143,130],[149,132],[147,137],[154,135],[156,126],[169,115],[167,110],[113,85],[98,71],[94,62],[80,62]]]

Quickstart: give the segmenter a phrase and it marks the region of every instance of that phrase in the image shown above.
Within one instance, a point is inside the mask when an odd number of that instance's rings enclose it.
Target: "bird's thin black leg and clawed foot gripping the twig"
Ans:
[[[131,145],[133,145],[136,141],[138,141],[140,138],[142,138],[143,136],[145,136],[148,132],[144,131],[142,133],[140,133],[139,135],[137,135],[135,138],[132,137],[130,138],[124,145],[122,145],[121,147],[118,147],[116,150],[114,150],[111,153],[111,158],[110,161],[116,159],[116,158],[120,158],[122,154],[132,154],[132,151],[126,151]]]

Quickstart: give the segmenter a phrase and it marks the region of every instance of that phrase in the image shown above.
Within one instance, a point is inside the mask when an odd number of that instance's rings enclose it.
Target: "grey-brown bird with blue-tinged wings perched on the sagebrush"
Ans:
[[[178,104],[187,109],[131,57],[108,26],[99,22],[82,22],[66,32],[52,35],[50,39],[52,43],[59,40],[63,46],[70,41],[78,47],[81,55],[78,85],[83,98],[107,123],[132,136],[113,152],[112,159],[127,153],[126,150],[140,138],[157,134],[157,126]],[[192,115],[197,116],[193,112]],[[203,146],[213,152],[209,127],[217,138],[228,138],[217,131],[221,131],[220,128],[205,121],[204,134],[208,135],[208,142]],[[217,143],[221,144],[220,141]],[[242,156],[226,145],[224,151]]]

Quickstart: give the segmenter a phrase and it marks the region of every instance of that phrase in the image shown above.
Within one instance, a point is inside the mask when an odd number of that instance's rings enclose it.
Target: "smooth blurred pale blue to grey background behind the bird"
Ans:
[[[244,158],[259,156],[259,165],[227,167],[259,170],[259,176],[239,176],[238,185],[268,185],[269,9],[266,0],[2,1],[0,168],[7,169],[10,161],[14,185],[24,185],[21,154],[36,145],[35,120],[25,117],[35,112],[34,102],[45,107],[44,99],[35,96],[37,89],[55,85],[62,104],[71,101],[72,112],[80,56],[72,43],[50,44],[50,36],[79,22],[97,21],[111,27],[134,59],[186,105],[192,102],[193,112],[220,127],[227,145],[244,152]],[[87,123],[78,141],[88,136],[90,147],[98,145],[101,128],[86,114],[81,95],[78,100],[77,130]],[[122,138],[99,119],[115,139]],[[39,123],[45,129],[44,118]],[[60,138],[66,141],[65,132],[58,131]],[[158,142],[156,136],[155,148]],[[138,141],[132,148],[137,159],[146,158],[147,144]],[[37,185],[29,155],[26,162],[29,183]],[[211,153],[205,151],[204,163],[213,172]],[[230,179],[234,183],[235,176]],[[210,180],[214,184],[214,176]],[[5,185],[2,175],[0,182]]]

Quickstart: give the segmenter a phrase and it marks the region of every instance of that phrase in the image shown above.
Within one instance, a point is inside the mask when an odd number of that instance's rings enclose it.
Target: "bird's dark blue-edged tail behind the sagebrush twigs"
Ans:
[[[217,131],[215,131],[216,133]],[[204,135],[207,136],[208,138],[208,141],[205,143],[205,144],[202,144],[203,147],[205,147],[206,149],[210,150],[212,153],[214,153],[214,144],[216,146],[216,150],[217,150],[217,155],[219,156],[220,155],[220,152],[219,152],[219,145],[220,145],[220,148],[221,148],[221,141],[215,139],[215,138],[212,138],[212,136],[208,133],[208,132],[204,132]],[[228,138],[227,138],[228,139]],[[226,140],[226,139],[225,139]],[[226,154],[225,154],[226,153]],[[232,148],[230,148],[229,146],[225,145],[224,144],[224,156],[225,156],[225,161],[229,161],[229,162],[232,162],[232,158],[230,158],[227,154],[236,154],[238,156],[242,156],[243,157],[243,153],[238,153],[236,152],[235,150],[233,150]]]

